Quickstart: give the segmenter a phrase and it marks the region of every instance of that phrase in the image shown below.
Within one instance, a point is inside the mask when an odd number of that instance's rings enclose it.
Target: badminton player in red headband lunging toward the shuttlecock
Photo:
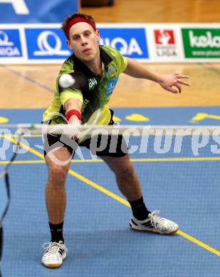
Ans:
[[[43,121],[50,124],[63,124],[65,121],[73,126],[89,122],[95,116],[95,124],[113,124],[112,112],[106,104],[112,95],[120,73],[132,77],[143,78],[157,82],[162,88],[172,93],[180,93],[181,85],[188,85],[182,78],[185,75],[160,75],[147,70],[140,63],[123,57],[110,46],[99,46],[100,33],[91,16],[83,13],[74,13],[66,18],[62,25],[68,46],[73,50],[61,68],[57,78],[53,102],[43,114]],[[176,88],[174,88],[176,87]],[[48,134],[45,143],[45,159],[48,166],[48,183],[46,185],[46,207],[48,211],[51,242],[44,244],[46,250],[42,263],[48,268],[57,268],[66,258],[68,249],[63,239],[63,219],[66,209],[66,176],[70,162],[56,163],[56,161],[70,161],[74,155],[74,147],[70,143],[57,147],[61,136]],[[101,139],[101,136],[98,136]],[[178,225],[169,219],[159,217],[159,212],[150,212],[142,198],[142,190],[125,150],[125,141],[122,136],[117,139],[115,152],[110,151],[110,139],[104,150],[96,154],[107,163],[115,173],[118,188],[130,202],[132,219],[130,227],[139,231],[155,232],[159,234],[174,234]],[[71,139],[69,139],[71,140]],[[73,137],[78,142],[78,135]],[[73,143],[73,144],[74,144]],[[80,146],[90,148],[90,139],[85,139]],[[56,145],[56,146],[54,146]],[[53,147],[54,146],[54,147]],[[53,149],[53,158],[50,158]],[[90,149],[93,151],[92,149]]]

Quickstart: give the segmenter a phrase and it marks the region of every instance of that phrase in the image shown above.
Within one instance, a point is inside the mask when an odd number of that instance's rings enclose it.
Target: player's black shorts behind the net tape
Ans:
[[[113,111],[110,110],[110,112],[111,119],[109,125],[113,125]],[[103,145],[101,145],[101,143],[103,143]],[[97,156],[123,157],[128,153],[127,143],[122,135],[93,136],[93,138],[86,139],[80,143],[80,145],[78,145],[77,141],[70,139],[68,136],[62,136],[62,139],[61,135],[46,134],[46,136],[44,136],[44,156],[46,156],[46,153],[59,146],[66,147],[70,152],[70,155],[72,155],[72,158],[78,146],[88,148],[93,155]],[[98,148],[101,148],[100,151]]]

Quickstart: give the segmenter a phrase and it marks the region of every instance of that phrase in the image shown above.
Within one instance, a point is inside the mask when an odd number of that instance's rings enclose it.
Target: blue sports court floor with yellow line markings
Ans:
[[[220,118],[219,107],[114,110],[121,124],[219,125]],[[27,119],[39,123],[42,112],[5,109],[0,116],[11,124]],[[75,156],[66,183],[64,235],[69,253],[57,269],[41,265],[41,246],[50,240],[42,139],[24,139],[30,148],[17,156],[9,170],[11,205],[4,220],[3,277],[220,276],[220,156],[214,139],[209,138],[195,151],[192,137],[187,136],[179,153],[174,153],[174,141],[166,153],[157,153],[155,137],[150,136],[147,151],[130,155],[147,207],[179,224],[174,236],[132,231],[130,207],[117,189],[114,175],[81,148],[85,160]],[[1,149],[2,143],[1,138]],[[140,138],[132,138],[131,145],[139,147]],[[215,153],[211,151],[213,145]],[[1,151],[1,166],[11,158],[13,146],[12,139],[5,158]],[[6,195],[2,179],[0,185],[3,210]]]

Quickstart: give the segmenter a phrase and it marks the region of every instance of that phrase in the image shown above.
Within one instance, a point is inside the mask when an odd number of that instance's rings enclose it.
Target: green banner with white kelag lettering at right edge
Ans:
[[[185,58],[220,58],[220,28],[182,28]]]

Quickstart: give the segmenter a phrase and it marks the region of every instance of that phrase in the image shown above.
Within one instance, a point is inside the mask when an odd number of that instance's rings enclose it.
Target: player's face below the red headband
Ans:
[[[79,22],[69,31],[68,46],[75,55],[85,63],[93,61],[98,55],[99,31],[95,31],[90,24]]]

